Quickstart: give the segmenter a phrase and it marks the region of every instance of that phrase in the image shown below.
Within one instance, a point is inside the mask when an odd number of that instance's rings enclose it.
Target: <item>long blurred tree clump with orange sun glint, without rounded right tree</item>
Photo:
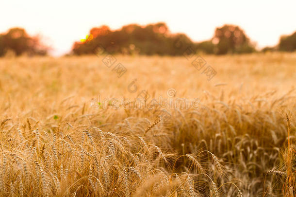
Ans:
[[[136,52],[146,55],[182,55],[187,47],[196,45],[184,34],[170,34],[163,22],[144,27],[130,24],[115,31],[111,31],[107,26],[101,26],[91,29],[90,34],[93,35],[93,40],[74,43],[73,54],[91,54],[100,44],[110,54]],[[177,42],[182,43],[182,46],[179,47]]]

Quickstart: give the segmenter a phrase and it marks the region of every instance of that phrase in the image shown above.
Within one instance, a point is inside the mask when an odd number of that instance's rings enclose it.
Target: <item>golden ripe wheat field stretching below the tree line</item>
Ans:
[[[294,197],[296,54],[201,56],[1,58],[0,196]]]

